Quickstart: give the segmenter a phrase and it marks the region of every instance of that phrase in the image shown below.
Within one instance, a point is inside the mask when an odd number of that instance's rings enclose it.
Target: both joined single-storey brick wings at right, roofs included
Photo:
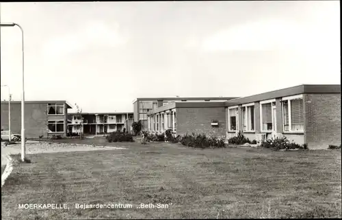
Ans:
[[[286,136],[311,149],[341,144],[341,85],[300,85],[224,102],[176,102],[148,112],[148,131],[250,140]],[[214,123],[213,123],[214,122]]]

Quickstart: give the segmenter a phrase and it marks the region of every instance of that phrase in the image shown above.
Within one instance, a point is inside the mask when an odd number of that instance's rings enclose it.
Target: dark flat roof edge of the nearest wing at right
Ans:
[[[341,93],[341,85],[339,84],[302,84],[289,88],[282,88],[267,93],[251,95],[248,97],[240,97],[225,101],[225,106],[237,106],[240,104],[251,103],[255,101],[263,101],[267,99],[276,99],[291,95],[299,95],[304,93]]]

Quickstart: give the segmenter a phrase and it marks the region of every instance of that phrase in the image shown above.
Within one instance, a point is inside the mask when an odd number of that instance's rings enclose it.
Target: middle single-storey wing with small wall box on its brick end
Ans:
[[[148,112],[148,132],[226,136],[224,102],[175,102]]]

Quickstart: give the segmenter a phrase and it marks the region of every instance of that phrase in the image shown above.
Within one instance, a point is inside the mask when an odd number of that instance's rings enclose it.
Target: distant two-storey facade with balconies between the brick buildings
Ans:
[[[68,123],[69,132],[79,134],[107,134],[131,130],[133,112],[109,113],[70,113],[71,121]]]

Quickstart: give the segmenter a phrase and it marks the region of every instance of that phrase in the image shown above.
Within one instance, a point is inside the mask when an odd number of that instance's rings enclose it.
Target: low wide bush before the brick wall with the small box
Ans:
[[[181,144],[187,147],[202,149],[208,147],[225,147],[223,138],[218,138],[215,136],[208,138],[205,134],[185,134],[183,137],[177,136],[177,138],[180,138]]]

